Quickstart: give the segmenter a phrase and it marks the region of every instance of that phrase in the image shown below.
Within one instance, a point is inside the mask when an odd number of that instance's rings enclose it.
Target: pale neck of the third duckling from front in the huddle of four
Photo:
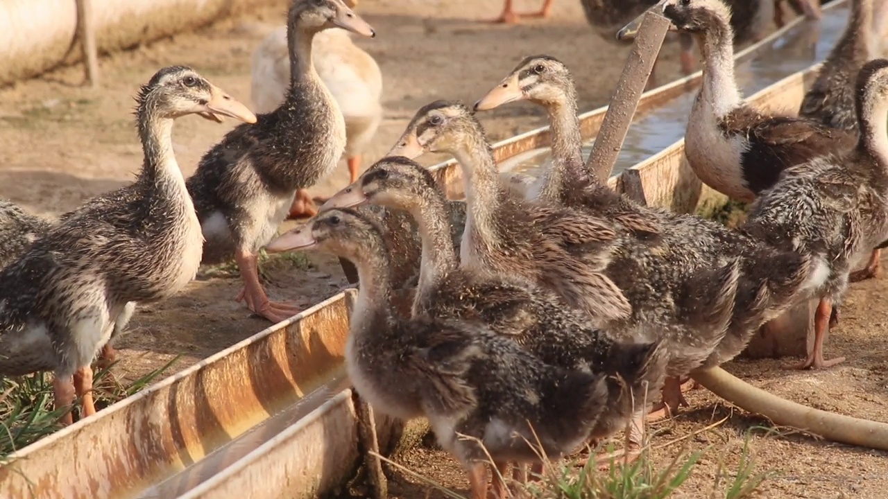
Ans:
[[[496,162],[488,141],[480,131],[473,134],[462,147],[453,152],[463,167],[466,230],[472,230],[472,241],[496,247],[495,215],[499,210],[499,186]],[[465,234],[463,236],[465,238]]]

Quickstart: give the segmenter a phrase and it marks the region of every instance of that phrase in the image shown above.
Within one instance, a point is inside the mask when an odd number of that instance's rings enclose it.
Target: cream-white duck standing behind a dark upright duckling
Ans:
[[[345,2],[350,8],[357,0]],[[274,30],[253,53],[251,88],[255,110],[271,113],[289,88],[287,28]],[[361,153],[367,148],[383,119],[380,102],[382,72],[377,61],[355,45],[342,29],[328,29],[314,36],[314,67],[345,118],[345,156],[354,182],[361,170]],[[297,209],[294,203],[293,209]]]

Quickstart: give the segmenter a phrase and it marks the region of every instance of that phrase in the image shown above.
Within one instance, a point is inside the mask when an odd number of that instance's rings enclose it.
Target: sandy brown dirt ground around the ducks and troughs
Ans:
[[[535,10],[538,0],[519,0],[519,11]],[[244,103],[250,102],[250,55],[263,36],[283,22],[286,2],[235,20],[183,34],[134,51],[100,60],[100,90],[79,86],[80,67],[66,68],[28,82],[0,89],[0,197],[28,210],[58,215],[95,194],[131,181],[139,169],[141,150],[133,128],[132,96],[159,67],[195,67]],[[392,146],[417,107],[434,99],[473,102],[517,64],[532,54],[564,60],[575,75],[583,110],[606,104],[622,71],[628,48],[605,41],[586,24],[577,2],[554,4],[549,20],[513,27],[478,20],[495,17],[499,0],[365,0],[358,12],[377,29],[377,38],[358,44],[382,68],[385,121],[365,164]],[[658,65],[661,82],[678,75],[676,44],[664,46]],[[511,105],[480,116],[491,139],[498,140],[544,123],[529,105]],[[190,175],[201,155],[230,130],[195,117],[180,120],[174,132],[178,162]],[[437,158],[427,158],[431,163]],[[317,194],[345,185],[345,165]],[[296,262],[295,264],[293,262]],[[311,265],[286,259],[269,269],[273,298],[317,303],[338,292],[345,278],[336,260],[311,257]],[[232,345],[269,324],[250,317],[234,302],[241,283],[230,268],[206,269],[178,297],[139,309],[128,335],[117,347],[122,376],[139,376],[177,354],[176,369]],[[842,323],[830,338],[829,355],[848,361],[825,372],[781,369],[778,361],[735,361],[726,368],[749,383],[814,408],[849,416],[888,421],[888,323],[884,281],[855,284],[843,307]],[[654,446],[699,431],[730,414],[705,390],[688,395],[692,408],[655,424]],[[710,483],[724,458],[731,470],[743,436],[763,422],[734,413],[725,424],[686,440],[692,449],[713,446],[694,471],[689,487],[675,496],[709,497]],[[682,444],[653,451],[656,462],[669,463]],[[850,448],[793,435],[757,435],[752,455],[758,471],[778,471],[765,482],[766,497],[884,497],[888,460],[884,453]],[[408,455],[409,468],[447,487],[465,490],[456,465],[428,449]],[[392,495],[415,499],[426,487],[411,480],[392,486]],[[432,493],[432,497],[443,497]]]

